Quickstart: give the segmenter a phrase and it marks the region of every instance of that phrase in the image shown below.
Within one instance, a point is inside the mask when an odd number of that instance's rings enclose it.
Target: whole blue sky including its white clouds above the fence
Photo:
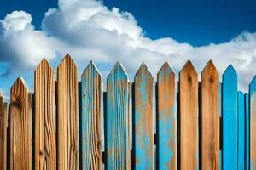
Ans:
[[[120,60],[131,80],[142,61],[155,73],[165,60],[179,71],[191,59],[201,71],[212,59],[220,72],[235,65],[246,90],[256,73],[255,18],[254,0],[0,0],[0,88],[8,94],[19,75],[32,88],[32,71],[43,57],[56,67],[69,53],[79,73],[95,60],[106,76]]]

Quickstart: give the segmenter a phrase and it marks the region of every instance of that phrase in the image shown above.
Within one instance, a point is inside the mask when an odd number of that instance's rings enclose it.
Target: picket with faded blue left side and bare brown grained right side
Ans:
[[[93,62],[81,77],[82,169],[102,169],[102,76]]]

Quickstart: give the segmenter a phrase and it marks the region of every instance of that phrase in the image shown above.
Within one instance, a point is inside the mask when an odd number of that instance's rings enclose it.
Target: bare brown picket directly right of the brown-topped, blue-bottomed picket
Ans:
[[[190,61],[179,73],[180,169],[199,169],[198,77]]]

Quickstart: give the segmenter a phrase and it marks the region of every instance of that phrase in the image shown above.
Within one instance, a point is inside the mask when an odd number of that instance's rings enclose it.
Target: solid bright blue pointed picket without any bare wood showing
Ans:
[[[232,65],[223,74],[223,169],[237,169],[237,74]]]

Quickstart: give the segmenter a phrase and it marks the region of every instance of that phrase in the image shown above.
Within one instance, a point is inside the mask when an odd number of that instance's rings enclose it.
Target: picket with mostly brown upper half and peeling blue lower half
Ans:
[[[159,169],[177,169],[175,74],[166,62],[157,74]]]

